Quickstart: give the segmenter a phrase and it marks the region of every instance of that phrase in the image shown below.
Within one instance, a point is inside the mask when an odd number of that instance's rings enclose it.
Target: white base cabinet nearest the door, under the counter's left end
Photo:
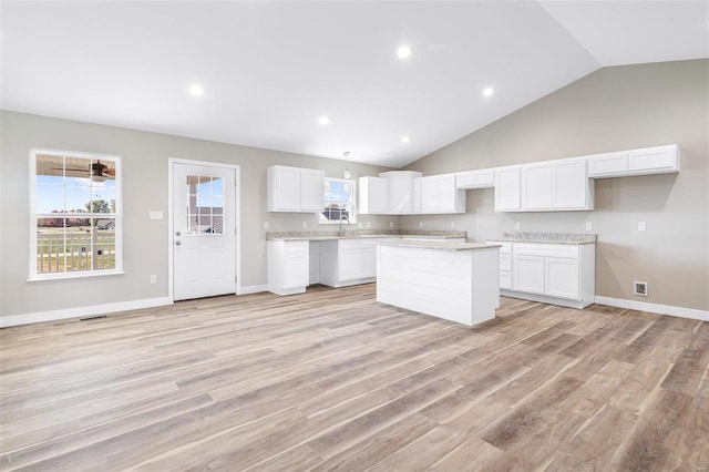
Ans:
[[[266,244],[268,291],[302,294],[309,284],[309,242],[268,240]]]

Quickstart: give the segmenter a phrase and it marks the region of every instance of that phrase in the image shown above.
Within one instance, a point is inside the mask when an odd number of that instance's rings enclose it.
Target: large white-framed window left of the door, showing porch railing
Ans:
[[[33,150],[30,279],[120,274],[121,157]]]

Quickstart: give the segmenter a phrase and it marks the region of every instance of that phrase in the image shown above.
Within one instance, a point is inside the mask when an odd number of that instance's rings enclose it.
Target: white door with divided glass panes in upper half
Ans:
[[[173,163],[173,298],[236,293],[236,170]]]

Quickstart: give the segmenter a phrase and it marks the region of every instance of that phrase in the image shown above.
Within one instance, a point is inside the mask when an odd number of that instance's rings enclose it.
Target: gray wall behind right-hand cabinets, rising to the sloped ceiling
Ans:
[[[499,91],[504,93],[504,91]],[[606,68],[409,165],[424,175],[677,143],[679,174],[596,181],[594,212],[494,213],[467,191],[460,216],[402,217],[400,228],[598,234],[596,295],[709,310],[709,61]],[[646,222],[647,230],[637,230]],[[649,297],[633,295],[633,281]]]

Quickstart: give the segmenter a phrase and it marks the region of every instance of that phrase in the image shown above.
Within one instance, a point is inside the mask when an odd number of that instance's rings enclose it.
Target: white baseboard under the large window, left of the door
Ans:
[[[56,321],[69,318],[84,318],[94,315],[105,315],[116,311],[137,310],[141,308],[161,307],[171,305],[168,297],[145,298],[142,300],[120,301],[116,304],[92,305],[89,307],[66,308],[62,310],[39,311],[24,315],[10,315],[0,317],[0,328],[11,326],[30,325],[33,322]]]

